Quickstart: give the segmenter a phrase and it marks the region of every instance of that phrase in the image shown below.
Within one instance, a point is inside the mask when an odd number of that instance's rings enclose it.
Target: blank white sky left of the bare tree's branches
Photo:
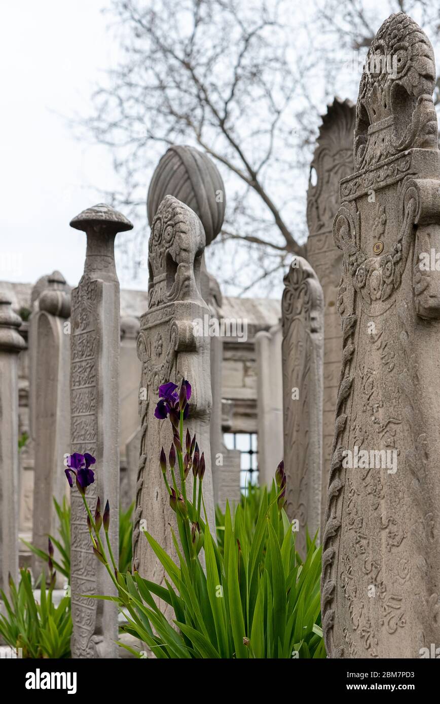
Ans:
[[[94,86],[116,64],[106,4],[1,3],[0,280],[35,282],[59,269],[76,284],[85,234],[69,221],[99,202],[96,187],[116,186],[109,151],[75,140],[63,118],[90,113]],[[146,286],[145,272],[135,287]]]

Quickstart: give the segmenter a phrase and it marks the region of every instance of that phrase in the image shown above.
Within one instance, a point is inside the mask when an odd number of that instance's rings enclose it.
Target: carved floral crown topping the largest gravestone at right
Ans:
[[[391,15],[369,48],[356,106],[360,170],[410,148],[436,149],[434,51],[405,13]]]

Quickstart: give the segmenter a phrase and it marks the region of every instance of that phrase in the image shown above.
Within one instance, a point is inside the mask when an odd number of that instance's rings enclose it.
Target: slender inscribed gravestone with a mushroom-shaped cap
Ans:
[[[109,500],[109,536],[118,555],[119,511],[119,282],[114,263],[117,232],[133,225],[104,204],[84,210],[71,227],[87,234],[84,274],[72,291],[71,450],[96,458],[87,489],[94,510]],[[110,601],[80,594],[114,594],[104,565],[94,557],[80,494],[71,492],[73,658],[116,658],[118,611]]]

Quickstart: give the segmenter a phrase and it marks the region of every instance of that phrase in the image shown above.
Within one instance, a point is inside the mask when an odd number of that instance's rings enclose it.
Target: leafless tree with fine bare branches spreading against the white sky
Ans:
[[[335,92],[355,99],[360,73],[350,56],[360,52],[362,69],[381,21],[399,10],[438,36],[423,0],[114,0],[123,60],[85,122],[114,153],[123,189],[111,200],[145,226],[159,157],[171,144],[198,146],[219,166],[228,203],[211,270],[230,293],[273,291],[304,252],[319,114]],[[145,231],[137,232],[126,256],[139,263]]]

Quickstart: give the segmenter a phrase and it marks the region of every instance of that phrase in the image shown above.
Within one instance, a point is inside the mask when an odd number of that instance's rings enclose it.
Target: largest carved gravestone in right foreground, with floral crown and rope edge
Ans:
[[[373,56],[396,71],[373,72]],[[362,73],[356,172],[334,221],[343,353],[322,557],[332,658],[419,658],[440,642],[440,280],[419,262],[440,248],[435,75],[424,32],[391,15]],[[396,472],[371,459],[344,468],[355,446],[390,451]]]

